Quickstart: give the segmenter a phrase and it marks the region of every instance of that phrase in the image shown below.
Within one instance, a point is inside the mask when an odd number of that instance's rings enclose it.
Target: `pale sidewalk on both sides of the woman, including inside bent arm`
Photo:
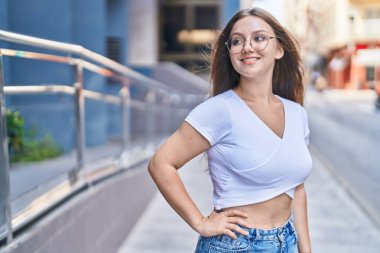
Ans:
[[[307,103],[312,101],[310,95],[316,94],[311,91]],[[315,138],[311,138],[309,145],[313,169],[305,182],[312,252],[380,252],[379,227],[326,162],[313,143]],[[190,196],[202,213],[208,215],[213,207],[206,157],[202,154],[194,158],[179,173]],[[194,252],[197,237],[157,193],[118,253]]]

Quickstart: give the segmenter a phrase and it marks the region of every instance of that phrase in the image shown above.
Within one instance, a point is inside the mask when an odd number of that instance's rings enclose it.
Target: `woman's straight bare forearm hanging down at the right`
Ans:
[[[294,225],[298,234],[298,250],[300,253],[310,253],[310,236],[307,221],[307,198],[304,184],[296,187],[293,200]]]

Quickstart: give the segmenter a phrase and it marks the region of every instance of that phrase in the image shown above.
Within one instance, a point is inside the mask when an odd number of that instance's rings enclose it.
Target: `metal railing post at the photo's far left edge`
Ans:
[[[12,241],[12,214],[9,184],[9,156],[7,143],[7,125],[5,118],[5,95],[3,57],[0,49],[0,228],[7,229],[7,243]],[[4,222],[5,221],[5,222]],[[6,223],[6,224],[4,224]],[[1,230],[0,230],[1,232]]]

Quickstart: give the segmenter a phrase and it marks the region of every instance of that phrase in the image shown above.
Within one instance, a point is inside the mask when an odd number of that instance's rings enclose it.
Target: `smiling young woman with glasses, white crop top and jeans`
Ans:
[[[212,97],[157,150],[149,172],[200,234],[196,252],[311,252],[304,181],[312,160],[298,44],[261,9],[238,12],[211,57]],[[177,169],[207,151],[214,211]]]

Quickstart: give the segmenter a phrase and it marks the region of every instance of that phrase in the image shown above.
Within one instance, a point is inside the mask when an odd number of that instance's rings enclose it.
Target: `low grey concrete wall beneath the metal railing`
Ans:
[[[156,192],[146,166],[73,197],[16,237],[4,252],[116,252]]]

